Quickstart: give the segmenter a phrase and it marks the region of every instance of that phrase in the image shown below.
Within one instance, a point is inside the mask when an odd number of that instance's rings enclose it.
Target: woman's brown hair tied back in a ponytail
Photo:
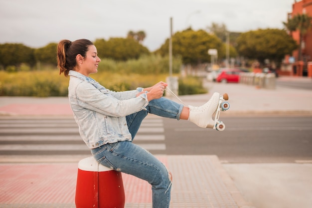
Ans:
[[[68,76],[70,70],[76,66],[76,56],[78,54],[86,57],[89,45],[94,45],[90,40],[79,39],[75,41],[61,40],[57,45],[57,66],[60,74]]]

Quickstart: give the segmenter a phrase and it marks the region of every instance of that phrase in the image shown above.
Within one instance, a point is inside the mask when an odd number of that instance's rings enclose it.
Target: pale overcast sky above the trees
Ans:
[[[0,43],[38,48],[61,39],[126,37],[146,32],[151,51],[191,26],[224,23],[229,31],[283,28],[295,0],[0,0]]]

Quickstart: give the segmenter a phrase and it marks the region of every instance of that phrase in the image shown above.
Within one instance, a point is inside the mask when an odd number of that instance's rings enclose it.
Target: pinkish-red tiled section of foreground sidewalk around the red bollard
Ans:
[[[0,204],[74,204],[77,164],[0,164]],[[152,203],[151,186],[123,174],[126,203]]]

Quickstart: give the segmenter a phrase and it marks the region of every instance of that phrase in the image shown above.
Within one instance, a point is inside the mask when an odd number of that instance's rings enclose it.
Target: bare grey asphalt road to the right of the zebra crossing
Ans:
[[[312,160],[312,117],[220,117],[222,132],[164,119],[166,154],[217,155],[230,163]]]

